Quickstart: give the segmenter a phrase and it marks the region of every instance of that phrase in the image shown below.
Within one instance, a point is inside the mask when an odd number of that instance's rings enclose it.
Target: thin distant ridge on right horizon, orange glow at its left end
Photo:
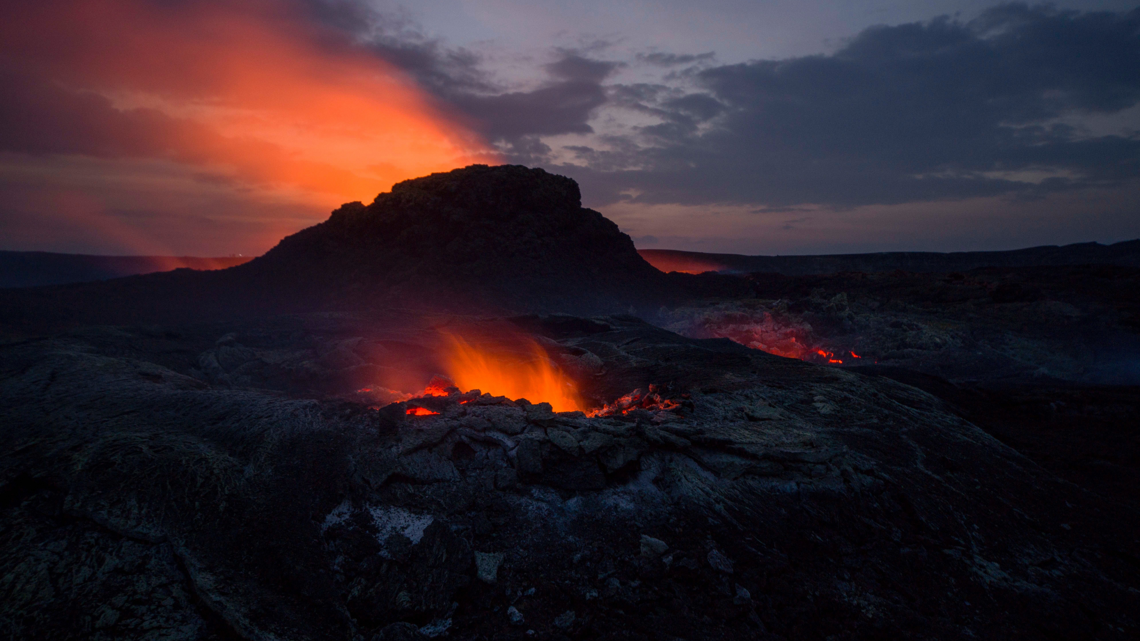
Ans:
[[[967,271],[979,267],[1057,267],[1064,265],[1116,265],[1140,267],[1140,240],[1110,245],[1076,243],[1024,250],[987,252],[882,252],[824,255],[741,255],[678,250],[637,250],[662,271],[768,271],[788,276],[840,271]]]

